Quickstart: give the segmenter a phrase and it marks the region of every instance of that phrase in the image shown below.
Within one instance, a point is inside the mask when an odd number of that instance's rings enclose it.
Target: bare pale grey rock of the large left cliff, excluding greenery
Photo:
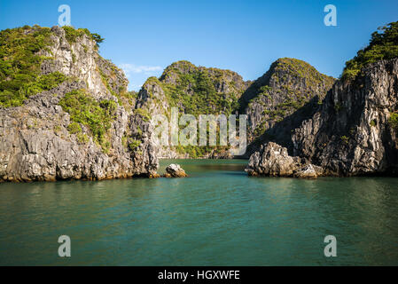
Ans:
[[[96,43],[88,36],[80,36],[71,45],[63,28],[51,31],[53,44],[42,53],[53,60],[43,62],[42,73],[58,71],[71,80],[30,97],[22,106],[0,108],[0,182],[153,176],[159,162],[150,141],[152,126],[124,106],[116,104],[106,133],[107,151],[93,141],[84,125],[82,134],[88,141],[69,132],[70,115],[59,106],[66,93],[85,89],[98,101],[118,102],[113,94],[128,81],[121,70],[98,55]],[[129,149],[130,139],[139,140],[140,145]]]

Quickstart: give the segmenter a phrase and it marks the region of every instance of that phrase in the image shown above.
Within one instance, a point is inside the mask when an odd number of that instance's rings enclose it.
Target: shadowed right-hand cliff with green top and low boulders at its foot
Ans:
[[[294,157],[267,143],[250,157],[249,175],[397,176],[398,22],[378,30],[293,131]]]

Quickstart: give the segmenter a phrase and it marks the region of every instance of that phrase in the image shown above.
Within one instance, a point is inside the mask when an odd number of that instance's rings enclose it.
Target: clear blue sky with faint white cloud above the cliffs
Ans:
[[[180,59],[254,80],[292,57],[337,77],[373,31],[398,20],[396,0],[0,0],[0,29],[55,26],[60,4],[75,28],[105,37],[100,53],[124,67],[131,90]],[[337,8],[337,27],[324,25],[326,4]]]

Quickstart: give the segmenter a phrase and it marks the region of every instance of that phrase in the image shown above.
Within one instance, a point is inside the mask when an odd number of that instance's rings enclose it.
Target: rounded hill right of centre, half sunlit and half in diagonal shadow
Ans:
[[[246,155],[263,143],[277,142],[293,152],[292,131],[316,112],[318,102],[332,87],[334,78],[316,71],[299,59],[277,59],[239,99],[247,114]]]

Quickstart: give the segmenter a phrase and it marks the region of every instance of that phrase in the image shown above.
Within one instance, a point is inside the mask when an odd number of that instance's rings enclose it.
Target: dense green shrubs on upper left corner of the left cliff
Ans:
[[[59,73],[41,75],[40,55],[50,44],[51,29],[5,29],[0,32],[0,106],[20,106],[24,99],[40,91],[50,90],[66,77]]]

